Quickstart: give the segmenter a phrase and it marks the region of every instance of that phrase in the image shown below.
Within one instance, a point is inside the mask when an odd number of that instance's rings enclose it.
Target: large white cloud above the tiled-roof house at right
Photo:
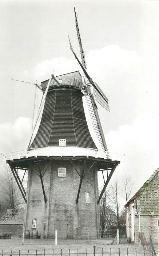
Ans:
[[[159,117],[153,113],[140,114],[132,125],[106,134],[108,150],[125,154],[114,176],[128,173],[140,187],[159,167]]]

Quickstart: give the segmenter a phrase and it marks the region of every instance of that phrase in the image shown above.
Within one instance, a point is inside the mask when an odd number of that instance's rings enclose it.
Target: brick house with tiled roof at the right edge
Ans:
[[[127,219],[127,237],[131,242],[139,242],[142,233],[149,242],[158,243],[158,216],[159,216],[159,168],[135,193],[125,205]]]

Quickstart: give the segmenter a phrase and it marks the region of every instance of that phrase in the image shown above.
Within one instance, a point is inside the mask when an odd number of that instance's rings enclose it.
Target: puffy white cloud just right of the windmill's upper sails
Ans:
[[[141,59],[135,51],[127,51],[118,45],[108,45],[87,54],[87,66],[99,79],[109,75],[112,71],[115,71],[115,75],[128,71],[134,73],[140,66],[140,62]]]

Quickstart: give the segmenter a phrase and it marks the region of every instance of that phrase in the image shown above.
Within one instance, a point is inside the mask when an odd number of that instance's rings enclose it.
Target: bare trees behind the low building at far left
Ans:
[[[1,214],[7,209],[24,207],[24,199],[16,184],[15,178],[8,165],[3,164],[0,169],[0,210]]]

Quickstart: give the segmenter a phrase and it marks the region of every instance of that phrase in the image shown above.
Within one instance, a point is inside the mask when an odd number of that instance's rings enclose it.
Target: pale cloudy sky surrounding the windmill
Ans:
[[[40,84],[80,70],[74,7],[87,71],[109,99],[110,113],[98,106],[107,147],[121,154],[111,182],[130,174],[137,190],[159,167],[155,0],[0,0],[0,151],[26,148],[32,126],[35,86],[11,78]]]

